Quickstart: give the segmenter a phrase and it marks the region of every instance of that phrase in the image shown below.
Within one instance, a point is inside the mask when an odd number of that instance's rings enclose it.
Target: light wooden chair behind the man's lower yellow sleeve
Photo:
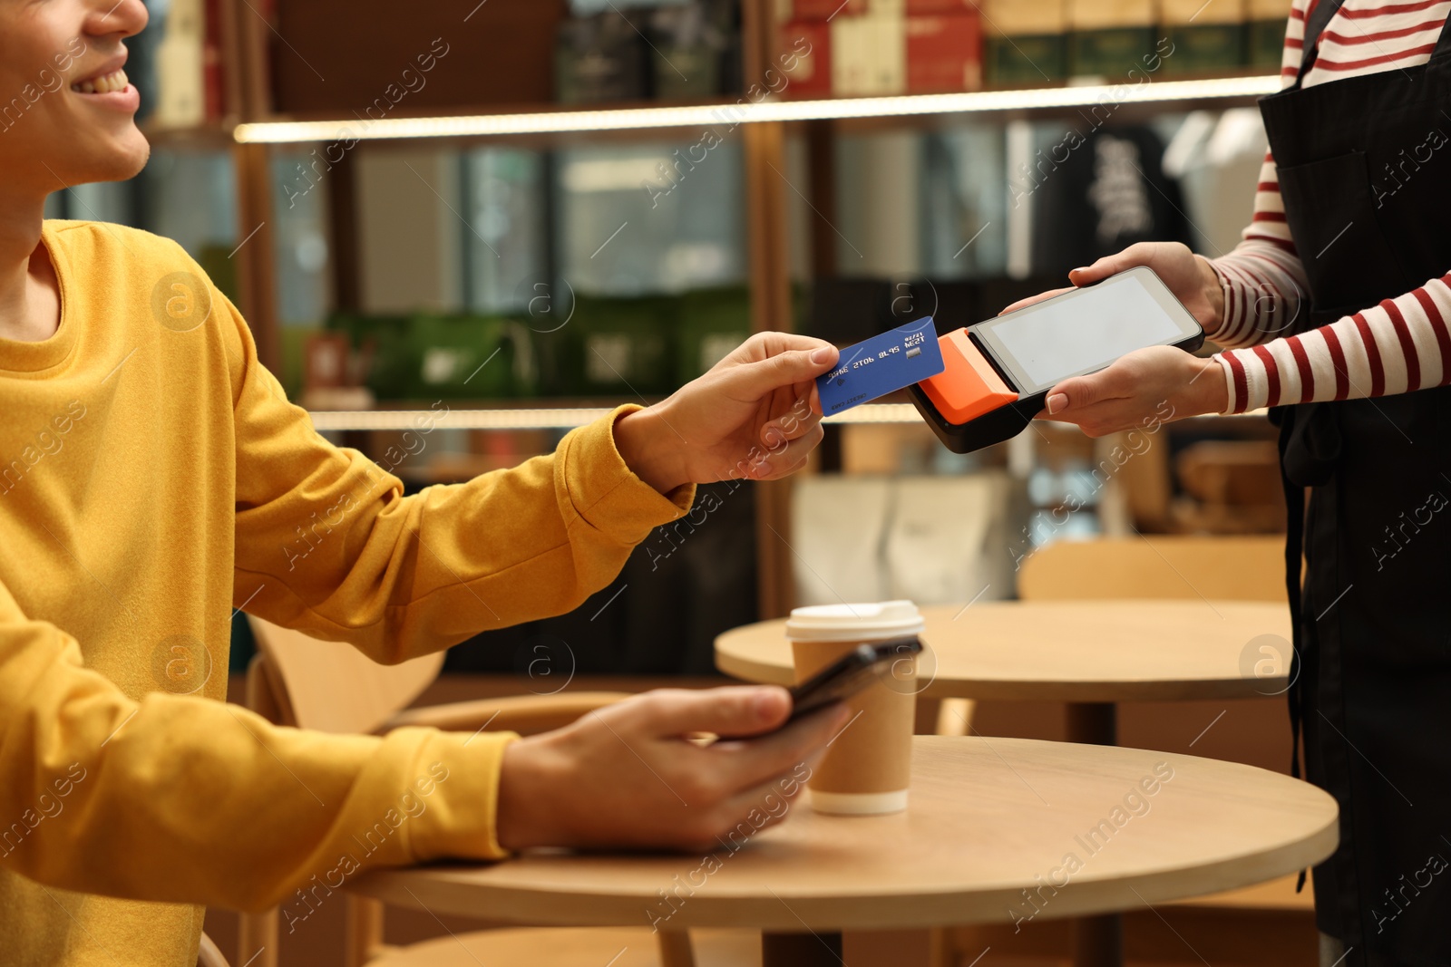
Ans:
[[[405,709],[443,668],[444,655],[380,665],[351,645],[250,618],[258,654],[247,673],[247,706],[279,725],[338,734],[385,734],[403,725],[451,731],[512,731],[522,735],[564,726],[582,715],[628,697],[622,692],[485,699]],[[435,964],[582,964],[615,967],[702,967],[759,963],[759,935],[698,931],[695,937],[646,926],[628,929],[492,929],[411,947],[383,944],[383,905],[345,897],[348,967],[432,967]],[[251,967],[277,967],[277,910],[241,918],[242,955],[261,948]],[[694,939],[694,948],[692,948]],[[627,948],[621,954],[621,948]],[[744,955],[744,960],[741,957]],[[207,966],[210,967],[210,966]],[[225,961],[223,961],[225,967]]]

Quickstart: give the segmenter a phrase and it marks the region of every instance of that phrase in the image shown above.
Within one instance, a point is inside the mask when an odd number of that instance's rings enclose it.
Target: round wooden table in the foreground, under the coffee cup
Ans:
[[[1284,876],[1336,845],[1331,796],[1252,765],[1037,739],[914,742],[904,813],[797,805],[708,857],[534,852],[376,871],[347,889],[518,924],[759,928],[776,967],[837,964],[811,937],[823,931],[1152,908]]]

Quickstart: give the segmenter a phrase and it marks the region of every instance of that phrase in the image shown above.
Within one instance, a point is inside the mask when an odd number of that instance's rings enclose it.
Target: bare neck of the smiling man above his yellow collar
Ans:
[[[45,199],[0,197],[0,338],[38,342],[58,323],[49,255],[41,246]],[[35,260],[36,264],[32,264]]]

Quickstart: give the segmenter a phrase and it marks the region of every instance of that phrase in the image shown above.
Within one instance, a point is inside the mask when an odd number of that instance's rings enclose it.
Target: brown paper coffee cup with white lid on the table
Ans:
[[[797,683],[859,645],[907,638],[921,629],[921,613],[911,602],[798,607],[786,622]],[[853,718],[831,741],[807,783],[813,809],[874,815],[907,808],[916,677],[916,657],[903,655],[891,674],[846,700]]]

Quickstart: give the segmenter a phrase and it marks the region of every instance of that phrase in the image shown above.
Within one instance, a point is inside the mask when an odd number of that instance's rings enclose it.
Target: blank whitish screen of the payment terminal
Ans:
[[[1103,368],[1135,349],[1184,336],[1164,306],[1132,275],[1023,310],[1011,320],[991,325],[991,332],[1037,389]]]

